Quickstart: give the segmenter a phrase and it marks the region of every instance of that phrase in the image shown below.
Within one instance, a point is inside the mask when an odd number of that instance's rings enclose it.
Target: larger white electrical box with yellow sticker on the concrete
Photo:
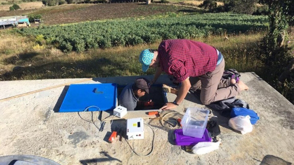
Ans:
[[[144,139],[144,120],[142,118],[127,120],[128,139]]]

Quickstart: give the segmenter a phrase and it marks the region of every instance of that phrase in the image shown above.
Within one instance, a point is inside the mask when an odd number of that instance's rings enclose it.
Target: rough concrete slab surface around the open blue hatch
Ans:
[[[144,120],[155,131],[154,151],[151,156],[136,156],[128,143],[107,142],[111,129],[125,129],[125,121],[113,121],[110,128],[99,132],[94,124],[84,121],[96,119],[97,112],[55,113],[62,102],[66,87],[59,87],[35,94],[0,102],[0,156],[28,154],[52,159],[62,165],[75,164],[246,164],[264,165],[268,162],[287,164],[294,162],[294,106],[255,73],[242,73],[241,79],[249,86],[239,98],[245,100],[250,109],[255,110],[260,120],[251,133],[241,135],[228,127],[228,118],[217,111],[210,114],[211,120],[220,124],[222,139],[220,148],[205,155],[189,154],[175,146],[173,130],[161,126],[158,120]],[[133,82],[139,76],[97,78],[87,83]],[[152,76],[146,76],[151,79]],[[48,86],[63,84],[78,79],[1,81],[0,98],[6,98]],[[163,75],[158,83],[170,83]],[[175,95],[168,94],[168,101]],[[175,111],[198,104],[199,100],[188,95]],[[128,117],[140,116],[142,111],[128,112]],[[109,113],[102,113],[102,116]],[[217,116],[217,117],[216,117]],[[108,127],[110,121],[106,122]],[[100,124],[97,123],[99,126]],[[151,149],[152,131],[145,128],[144,140],[128,140],[135,150],[144,155]]]

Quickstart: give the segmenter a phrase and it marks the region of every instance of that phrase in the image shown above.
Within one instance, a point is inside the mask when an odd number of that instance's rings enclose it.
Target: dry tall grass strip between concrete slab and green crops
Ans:
[[[23,48],[14,48],[5,54],[0,48],[0,69],[5,69],[6,74],[2,80],[28,80],[28,79],[59,79],[82,77],[108,77],[108,76],[134,76],[143,75],[138,55],[146,48],[157,49],[160,42],[154,44],[140,44],[137,46],[118,46],[107,49],[90,49],[85,52],[68,54],[62,53],[52,46],[45,46],[42,50],[33,50],[36,43],[26,41],[22,36],[19,44],[27,45]],[[222,52],[226,60],[226,68],[235,68],[240,72],[255,71],[262,64],[255,58],[253,48],[262,33],[241,34],[229,36],[210,36],[194,39],[208,43]],[[4,40],[13,36],[3,36]],[[0,45],[5,44],[0,41]],[[29,47],[31,46],[31,49]],[[20,46],[21,47],[21,46]],[[7,47],[6,47],[7,48]],[[5,49],[6,49],[5,48]],[[9,67],[7,67],[9,66]],[[22,66],[12,71],[14,66]],[[153,74],[149,69],[146,74]]]

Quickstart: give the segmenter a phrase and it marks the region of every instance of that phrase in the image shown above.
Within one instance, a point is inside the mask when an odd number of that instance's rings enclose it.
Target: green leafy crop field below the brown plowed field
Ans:
[[[107,48],[164,39],[191,39],[211,34],[239,33],[265,29],[265,16],[228,13],[202,13],[164,18],[93,21],[65,26],[42,26],[21,29],[23,35],[38,36],[64,52]]]

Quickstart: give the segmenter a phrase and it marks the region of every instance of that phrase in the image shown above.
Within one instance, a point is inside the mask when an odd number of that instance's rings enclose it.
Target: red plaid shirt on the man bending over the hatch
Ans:
[[[216,49],[202,42],[187,39],[162,41],[158,47],[161,69],[179,82],[196,77],[216,68]]]

